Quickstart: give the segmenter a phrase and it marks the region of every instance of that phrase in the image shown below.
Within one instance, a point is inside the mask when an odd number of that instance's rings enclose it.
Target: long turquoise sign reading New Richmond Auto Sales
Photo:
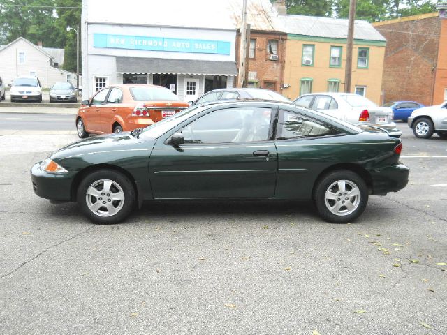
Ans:
[[[94,34],[93,46],[112,49],[190,52],[196,54],[230,54],[231,43],[221,40]]]

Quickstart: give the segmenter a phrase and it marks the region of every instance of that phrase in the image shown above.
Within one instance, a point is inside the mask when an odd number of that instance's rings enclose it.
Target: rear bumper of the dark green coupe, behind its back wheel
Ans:
[[[408,184],[410,169],[404,164],[396,164],[369,172],[372,177],[372,195],[384,195],[402,190]]]

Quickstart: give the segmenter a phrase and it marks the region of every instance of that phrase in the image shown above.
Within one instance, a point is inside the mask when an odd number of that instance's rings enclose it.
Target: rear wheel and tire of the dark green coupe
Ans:
[[[339,185],[344,186],[344,190],[340,189]],[[368,188],[365,181],[349,170],[337,170],[326,174],[317,181],[314,190],[314,202],[318,214],[325,221],[332,223],[354,221],[365,211],[368,203]],[[332,199],[331,194],[335,198]]]

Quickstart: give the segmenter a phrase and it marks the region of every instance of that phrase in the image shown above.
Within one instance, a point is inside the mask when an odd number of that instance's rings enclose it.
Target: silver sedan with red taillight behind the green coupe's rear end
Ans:
[[[379,107],[358,94],[332,92],[304,94],[293,102],[301,107],[318,110],[352,124],[385,129],[390,136],[402,135],[402,131],[397,129],[393,122],[393,110],[390,107]]]

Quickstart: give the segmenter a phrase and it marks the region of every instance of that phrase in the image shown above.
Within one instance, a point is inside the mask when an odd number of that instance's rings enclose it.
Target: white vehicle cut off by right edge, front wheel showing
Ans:
[[[430,138],[437,133],[447,138],[447,101],[441,105],[423,107],[415,110],[408,118],[408,126],[419,138]]]

